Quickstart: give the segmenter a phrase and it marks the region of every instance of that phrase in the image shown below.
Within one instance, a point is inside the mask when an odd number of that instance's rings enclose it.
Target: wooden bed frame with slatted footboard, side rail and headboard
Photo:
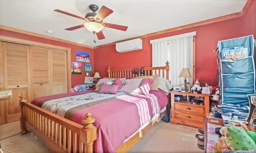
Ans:
[[[132,68],[112,70],[108,67],[107,72],[109,78],[131,79],[137,77],[132,73],[132,70]],[[166,74],[166,79],[169,79],[168,61],[166,66],[146,67],[144,70],[144,76],[159,74],[161,77],[165,77]],[[161,71],[162,74],[160,74]],[[138,76],[140,75],[139,73]],[[97,129],[93,125],[95,118],[91,117],[91,113],[85,114],[85,118],[81,121],[83,126],[27,102],[24,94],[19,98],[21,134],[26,134],[28,131],[33,133],[53,152],[93,153],[93,142],[97,138]],[[123,143],[117,152],[128,152],[158,122],[159,117]]]

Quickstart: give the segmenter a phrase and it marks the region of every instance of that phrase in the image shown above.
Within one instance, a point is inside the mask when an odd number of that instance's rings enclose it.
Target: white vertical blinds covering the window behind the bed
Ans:
[[[179,78],[182,68],[188,68],[193,76],[193,36],[152,43],[152,66],[165,66],[166,61],[173,86],[184,84],[184,78]],[[192,85],[193,78],[187,82]]]

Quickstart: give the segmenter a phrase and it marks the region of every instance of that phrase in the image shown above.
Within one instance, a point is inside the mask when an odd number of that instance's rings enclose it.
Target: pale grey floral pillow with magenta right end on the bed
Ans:
[[[121,83],[122,88],[120,88],[118,92],[148,95],[153,79],[126,79],[122,80]]]

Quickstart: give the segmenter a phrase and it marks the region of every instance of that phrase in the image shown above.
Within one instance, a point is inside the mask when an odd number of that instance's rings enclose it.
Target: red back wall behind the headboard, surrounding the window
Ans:
[[[95,72],[101,77],[107,77],[107,68],[133,68],[152,66],[152,45],[150,40],[196,31],[196,79],[201,84],[207,82],[217,85],[216,81],[216,49],[219,40],[225,40],[244,36],[242,18],[230,19],[185,29],[181,31],[165,33],[157,36],[143,38],[143,49],[125,53],[118,53],[115,45],[94,49]],[[166,61],[163,61],[166,63]],[[171,71],[170,71],[171,72]]]

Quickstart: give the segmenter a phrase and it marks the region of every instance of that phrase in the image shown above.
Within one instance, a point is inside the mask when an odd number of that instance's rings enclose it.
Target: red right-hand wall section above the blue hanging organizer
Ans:
[[[254,35],[256,39],[256,1],[254,0],[243,15],[245,35]]]

